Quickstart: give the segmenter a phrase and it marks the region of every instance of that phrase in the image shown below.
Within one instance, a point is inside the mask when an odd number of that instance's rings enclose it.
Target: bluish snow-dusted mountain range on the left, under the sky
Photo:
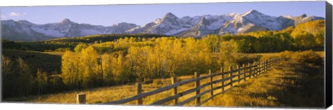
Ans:
[[[119,34],[135,28],[137,25],[119,23],[112,26],[95,26],[90,24],[78,24],[64,19],[59,23],[33,24],[29,21],[6,20],[1,21],[1,37],[11,40],[34,41],[52,39],[57,37],[80,37],[97,34]]]

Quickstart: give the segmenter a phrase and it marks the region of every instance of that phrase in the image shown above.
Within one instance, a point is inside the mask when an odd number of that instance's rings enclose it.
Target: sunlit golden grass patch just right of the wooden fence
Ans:
[[[280,72],[280,73],[279,73]],[[203,104],[203,106],[223,106],[223,107],[274,107],[278,106],[275,102],[276,98],[268,91],[281,91],[284,86],[280,84],[287,83],[287,80],[282,80],[280,77],[284,75],[282,71],[274,69],[263,73],[258,77],[234,86],[233,89],[221,95],[218,95],[214,100]],[[299,77],[299,76],[296,76]],[[292,83],[292,82],[290,82]]]

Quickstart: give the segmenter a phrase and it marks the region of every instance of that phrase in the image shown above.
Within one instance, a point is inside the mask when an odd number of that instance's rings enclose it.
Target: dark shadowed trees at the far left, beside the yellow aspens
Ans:
[[[65,90],[65,84],[59,77],[48,75],[39,68],[34,73],[31,65],[21,57],[10,59],[2,55],[1,67],[4,99]]]

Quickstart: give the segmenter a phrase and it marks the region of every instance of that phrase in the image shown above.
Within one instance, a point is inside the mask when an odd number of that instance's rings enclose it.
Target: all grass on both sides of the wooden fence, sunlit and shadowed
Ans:
[[[323,57],[323,52],[316,52]],[[48,53],[61,54],[61,53]],[[278,55],[277,53],[262,53],[262,54],[240,54],[239,59],[244,57],[271,57]],[[214,100],[210,100],[203,106],[219,106],[219,107],[322,107],[323,105],[323,66],[304,65],[299,62],[283,62],[278,67],[271,71],[259,75],[246,82],[240,84],[235,83],[231,91],[227,91],[222,95],[218,95]],[[203,73],[201,76],[207,75]],[[193,78],[194,75],[186,75],[178,77],[178,82]],[[228,77],[228,76],[225,76]],[[214,77],[214,80],[221,79],[221,76]],[[210,79],[201,80],[200,84],[209,82]],[[236,79],[234,79],[236,80]],[[226,81],[225,83],[228,83]],[[155,79],[150,84],[143,84],[143,92],[153,91],[162,86],[171,84],[171,80]],[[214,84],[214,86],[219,86]],[[225,89],[228,89],[227,86]],[[178,87],[178,93],[194,88],[194,82]],[[206,86],[201,91],[210,89]],[[157,100],[171,96],[172,91],[164,91],[144,98],[144,104],[151,104]],[[220,89],[214,93],[221,92]],[[56,104],[75,104],[76,94],[85,93],[87,95],[87,104],[103,104],[112,100],[121,100],[135,95],[135,84],[125,84],[119,86],[100,87],[94,89],[66,91],[62,93],[53,93],[49,95],[29,96],[25,98],[9,99],[9,102],[33,102],[33,103],[56,103]],[[316,94],[314,94],[316,93]],[[178,102],[182,102],[194,96],[195,93],[183,95]],[[201,97],[205,100],[210,97],[210,93],[206,93]],[[164,105],[171,105],[171,102]],[[126,104],[135,104],[135,101]],[[194,106],[194,101],[191,101],[185,106]]]

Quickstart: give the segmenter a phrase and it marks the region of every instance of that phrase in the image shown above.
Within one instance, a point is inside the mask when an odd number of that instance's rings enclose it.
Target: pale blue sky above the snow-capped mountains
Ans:
[[[266,15],[325,17],[325,1],[284,1],[248,3],[181,3],[108,6],[35,6],[1,7],[1,20],[28,20],[35,24],[60,22],[63,19],[80,24],[111,26],[120,22],[144,25],[172,12],[177,17],[196,15],[223,15],[258,10]]]

